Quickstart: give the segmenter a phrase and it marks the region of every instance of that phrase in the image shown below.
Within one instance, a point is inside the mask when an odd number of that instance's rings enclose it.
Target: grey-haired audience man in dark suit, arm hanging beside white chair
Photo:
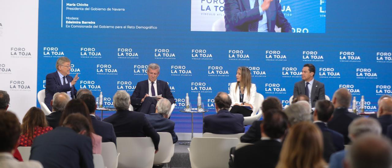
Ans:
[[[158,152],[159,134],[156,133],[143,113],[128,110],[129,99],[129,94],[126,91],[117,91],[113,97],[116,113],[103,121],[113,124],[116,137],[151,137],[155,153]]]

